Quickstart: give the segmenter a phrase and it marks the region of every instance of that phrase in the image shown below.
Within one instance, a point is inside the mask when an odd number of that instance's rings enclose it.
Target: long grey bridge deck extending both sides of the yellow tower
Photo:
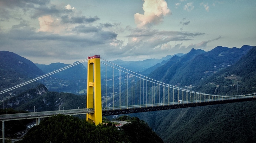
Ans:
[[[234,102],[253,101],[253,100],[256,100],[256,98],[247,97],[247,98],[233,98],[233,99],[190,101],[190,102],[182,102],[182,103],[175,102],[175,103],[164,103],[164,104],[133,105],[133,106],[122,106],[122,107],[114,107],[114,108],[109,107],[109,108],[102,109],[102,116],[188,108],[188,107],[214,105],[214,104],[226,104],[226,103],[234,103]],[[51,117],[53,115],[58,115],[58,114],[81,115],[81,114],[88,114],[88,113],[94,113],[94,109],[73,109],[73,110],[60,110],[60,111],[5,114],[5,115],[0,115],[0,121],[47,118],[47,117]]]

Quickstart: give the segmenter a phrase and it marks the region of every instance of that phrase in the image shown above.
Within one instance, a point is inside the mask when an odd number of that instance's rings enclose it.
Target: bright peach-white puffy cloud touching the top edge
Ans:
[[[158,25],[163,22],[165,15],[171,14],[164,0],[144,0],[143,10],[144,14],[134,14],[137,27]]]

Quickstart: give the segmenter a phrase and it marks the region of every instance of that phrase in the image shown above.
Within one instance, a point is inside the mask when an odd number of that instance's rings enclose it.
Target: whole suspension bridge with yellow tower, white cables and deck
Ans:
[[[57,114],[86,114],[88,122],[99,124],[102,122],[102,116],[108,115],[256,100],[255,92],[242,95],[211,95],[192,91],[188,88],[179,88],[120,67],[101,58],[99,55],[89,56],[83,61],[76,62],[65,68],[61,68],[28,82],[3,90],[0,94],[40,80],[83,62],[88,62],[87,107],[84,109],[64,110],[63,108],[63,110],[59,111],[0,115],[0,121],[3,123],[3,142],[4,121],[10,120],[36,118],[37,124],[39,124],[40,118],[51,117]],[[104,68],[104,66],[105,73],[101,71],[101,68]],[[112,75],[107,75],[107,71],[110,70],[112,70]],[[105,77],[101,78],[101,76]]]

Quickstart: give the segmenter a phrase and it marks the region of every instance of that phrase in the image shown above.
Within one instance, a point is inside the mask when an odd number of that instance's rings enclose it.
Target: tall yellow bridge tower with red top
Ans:
[[[94,108],[94,113],[86,114],[86,120],[98,125],[102,122],[100,55],[88,56],[88,59],[87,108]]]

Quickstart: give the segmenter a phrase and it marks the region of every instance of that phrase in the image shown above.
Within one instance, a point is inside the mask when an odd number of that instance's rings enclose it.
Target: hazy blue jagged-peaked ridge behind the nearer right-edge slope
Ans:
[[[244,45],[241,48],[217,46],[211,51],[192,49],[177,61],[167,62],[157,68],[149,77],[179,87],[194,85],[220,69],[227,68],[251,49]]]

